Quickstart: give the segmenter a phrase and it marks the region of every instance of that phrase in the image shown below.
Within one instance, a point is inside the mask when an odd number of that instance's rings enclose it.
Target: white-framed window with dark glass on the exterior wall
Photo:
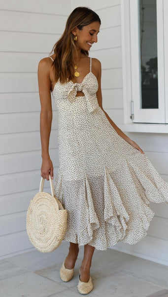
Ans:
[[[121,0],[125,124],[168,124],[167,15],[168,0]]]

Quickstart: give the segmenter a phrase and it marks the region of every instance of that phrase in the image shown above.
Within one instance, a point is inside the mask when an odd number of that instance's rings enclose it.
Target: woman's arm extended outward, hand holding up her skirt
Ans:
[[[112,119],[109,117],[109,115],[104,111],[102,107],[102,95],[101,95],[101,62],[98,59],[95,59],[95,66],[98,71],[98,84],[99,84],[99,89],[97,92],[97,98],[98,98],[98,103],[103,112],[105,113],[105,116],[107,117],[108,121],[110,122],[111,126],[115,129],[115,131],[120,135],[125,141],[127,141],[130,145],[132,145],[134,148],[138,149],[141,153],[144,153],[141,148],[133,141],[131,140],[126,134],[124,134],[120,128],[112,121]]]

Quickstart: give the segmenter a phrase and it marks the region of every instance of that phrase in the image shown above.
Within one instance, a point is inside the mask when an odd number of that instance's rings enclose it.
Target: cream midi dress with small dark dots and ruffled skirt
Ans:
[[[60,167],[54,189],[67,209],[64,240],[105,250],[146,236],[150,201],[168,203],[165,182],[145,154],[117,134],[98,104],[98,81],[56,83]],[[77,91],[84,96],[76,97]]]

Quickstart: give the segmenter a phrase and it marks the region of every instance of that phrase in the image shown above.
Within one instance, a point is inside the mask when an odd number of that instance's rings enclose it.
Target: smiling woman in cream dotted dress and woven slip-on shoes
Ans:
[[[64,240],[70,242],[60,276],[63,281],[73,277],[79,246],[84,245],[81,294],[93,289],[90,268],[95,248],[105,250],[119,241],[137,243],[154,215],[150,201],[168,203],[168,183],[103,110],[101,63],[88,57],[100,25],[94,11],[75,8],[54,53],[38,65],[41,176],[53,178],[48,152],[52,91],[59,111],[60,167],[54,187],[68,211]]]

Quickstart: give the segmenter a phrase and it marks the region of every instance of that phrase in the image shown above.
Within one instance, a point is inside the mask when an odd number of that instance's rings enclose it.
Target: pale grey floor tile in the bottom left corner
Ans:
[[[63,290],[63,285],[33,272],[0,281],[0,296],[3,297],[47,297]]]

